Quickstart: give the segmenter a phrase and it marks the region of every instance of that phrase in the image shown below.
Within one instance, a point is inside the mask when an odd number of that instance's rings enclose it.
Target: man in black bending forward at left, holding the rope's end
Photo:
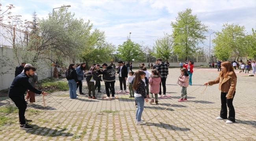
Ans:
[[[11,83],[11,87],[8,92],[9,98],[15,103],[15,105],[19,108],[19,120],[20,120],[20,129],[30,130],[33,127],[27,125],[26,122],[30,122],[32,120],[25,119],[25,111],[27,108],[27,104],[24,97],[24,92],[28,89],[36,94],[47,95],[47,92],[42,92],[41,90],[35,89],[28,81],[29,76],[33,76],[35,74],[35,67],[26,66],[24,68],[24,72],[14,78],[13,83]]]

